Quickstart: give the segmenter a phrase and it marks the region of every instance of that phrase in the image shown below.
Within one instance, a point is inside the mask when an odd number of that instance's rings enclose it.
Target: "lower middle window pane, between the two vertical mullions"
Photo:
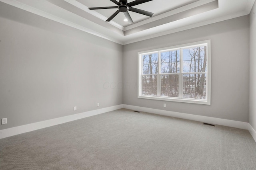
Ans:
[[[161,96],[179,97],[179,75],[161,75]]]

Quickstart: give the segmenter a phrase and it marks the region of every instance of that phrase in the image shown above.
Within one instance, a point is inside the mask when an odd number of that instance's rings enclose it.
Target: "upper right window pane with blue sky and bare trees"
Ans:
[[[206,46],[183,49],[183,72],[206,72]]]

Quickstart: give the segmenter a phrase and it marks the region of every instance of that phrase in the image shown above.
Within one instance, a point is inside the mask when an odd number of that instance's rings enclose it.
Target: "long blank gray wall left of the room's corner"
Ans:
[[[122,104],[119,82],[122,45],[0,2],[0,130]]]

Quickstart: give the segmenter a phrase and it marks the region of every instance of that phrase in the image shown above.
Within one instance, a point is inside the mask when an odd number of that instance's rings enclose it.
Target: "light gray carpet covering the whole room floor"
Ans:
[[[247,130],[120,109],[0,139],[1,170],[256,170]]]

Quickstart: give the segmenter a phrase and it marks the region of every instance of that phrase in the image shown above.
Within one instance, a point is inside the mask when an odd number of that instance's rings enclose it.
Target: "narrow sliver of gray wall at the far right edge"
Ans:
[[[250,13],[250,125],[256,130],[256,3]]]

